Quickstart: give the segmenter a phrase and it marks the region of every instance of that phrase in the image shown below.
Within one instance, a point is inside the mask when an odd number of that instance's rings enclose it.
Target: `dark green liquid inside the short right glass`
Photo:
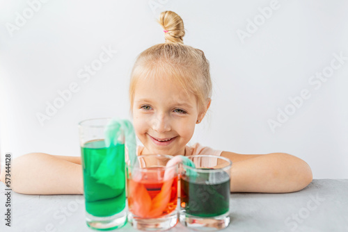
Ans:
[[[230,179],[226,174],[226,181],[207,184],[198,176],[195,181],[181,179],[181,208],[186,213],[197,217],[215,217],[228,213],[230,209]],[[222,176],[221,176],[222,177]]]

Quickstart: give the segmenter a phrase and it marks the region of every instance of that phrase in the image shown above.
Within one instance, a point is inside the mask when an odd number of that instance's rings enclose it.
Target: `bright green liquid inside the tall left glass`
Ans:
[[[120,213],[125,208],[125,144],[104,147],[104,140],[81,147],[86,210],[96,217]]]

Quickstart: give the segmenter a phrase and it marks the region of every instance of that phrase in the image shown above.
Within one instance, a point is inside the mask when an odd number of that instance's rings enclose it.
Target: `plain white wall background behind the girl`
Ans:
[[[130,119],[132,65],[141,51],[164,42],[156,19],[173,10],[184,20],[184,43],[205,51],[211,64],[212,106],[192,143],[239,154],[285,152],[305,160],[316,179],[347,179],[348,60],[319,88],[308,81],[330,67],[333,53],[348,56],[348,2],[280,0],[265,19],[258,8],[270,5],[51,0],[39,6],[38,0],[0,0],[2,160],[5,152],[79,156],[78,122]],[[241,39],[237,32],[247,32],[249,20],[259,20],[259,26]],[[85,65],[97,62],[102,47],[117,53],[89,81],[79,78]],[[79,91],[41,125],[37,113],[45,114],[47,102],[71,83]],[[272,131],[269,119],[276,120],[278,108],[290,109],[289,98],[303,89],[310,98]]]

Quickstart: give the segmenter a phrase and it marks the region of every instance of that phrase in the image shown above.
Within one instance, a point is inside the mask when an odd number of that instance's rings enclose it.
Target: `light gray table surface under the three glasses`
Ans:
[[[93,231],[83,195],[12,192],[11,227],[5,226],[6,186],[0,183],[0,231]],[[348,179],[315,179],[299,192],[230,194],[231,223],[222,231],[348,231]],[[115,231],[137,231],[127,224]],[[189,231],[177,224],[169,231]]]

